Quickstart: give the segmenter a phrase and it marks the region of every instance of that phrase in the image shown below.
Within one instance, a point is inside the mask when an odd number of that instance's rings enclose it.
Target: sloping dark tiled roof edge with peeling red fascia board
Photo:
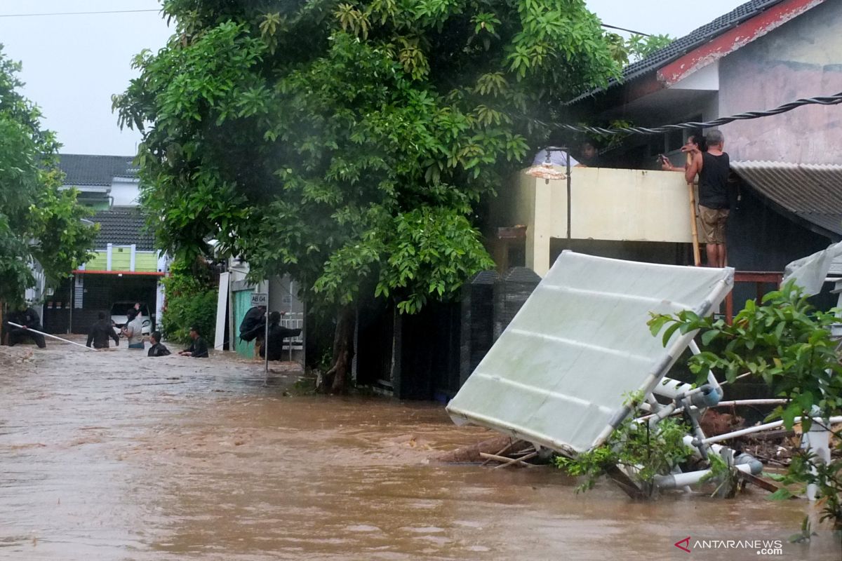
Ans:
[[[677,82],[681,77],[685,77],[691,71],[706,66],[710,62],[717,60],[717,58],[725,56],[743,45],[747,45],[760,35],[770,31],[770,29],[775,29],[775,27],[785,23],[789,19],[797,17],[797,15],[807,9],[813,8],[813,6],[822,2],[823,0],[751,0],[719,16],[717,19],[702,25],[700,28],[694,29],[684,37],[674,40],[669,45],[663,47],[663,49],[655,51],[652,55],[626,66],[623,70],[622,77],[619,80],[611,80],[607,87],[598,87],[578,96],[578,98],[574,98],[568,103],[575,103],[583,98],[593,96],[595,93],[632,82],[653,71],[663,69],[664,66],[682,59],[682,57],[692,53],[694,50],[706,46],[710,47],[709,49],[701,49],[705,50],[705,52],[700,53],[700,56],[696,57],[698,60],[685,61],[685,64],[680,65],[680,69],[671,69],[672,71],[667,73],[669,74],[668,76],[658,76],[658,79],[663,82]],[[771,10],[770,8],[775,8],[775,10]],[[763,15],[764,18],[759,18],[756,26],[749,26],[752,29],[735,29],[760,15]],[[718,37],[732,30],[734,36],[727,38],[729,41],[726,44],[717,45],[713,43]],[[710,52],[707,52],[707,50],[710,50]],[[675,76],[672,76],[672,74],[675,74]]]

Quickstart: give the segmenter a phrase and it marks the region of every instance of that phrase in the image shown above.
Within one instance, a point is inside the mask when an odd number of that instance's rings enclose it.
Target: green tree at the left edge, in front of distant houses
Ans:
[[[54,284],[88,259],[96,236],[76,192],[59,189],[59,145],[19,93],[19,71],[0,45],[0,302],[13,305],[35,285],[35,262]]]

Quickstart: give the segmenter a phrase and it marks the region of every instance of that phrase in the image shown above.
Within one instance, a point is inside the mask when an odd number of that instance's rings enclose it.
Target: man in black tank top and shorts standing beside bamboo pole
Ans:
[[[699,174],[699,218],[708,267],[725,267],[725,225],[728,218],[728,172],[731,162],[722,151],[725,137],[718,130],[707,133],[707,151],[698,152],[687,167],[687,182]]]

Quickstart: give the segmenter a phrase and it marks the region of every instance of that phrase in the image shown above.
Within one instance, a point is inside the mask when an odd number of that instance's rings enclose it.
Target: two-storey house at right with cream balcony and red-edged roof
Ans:
[[[842,0],[753,0],[628,66],[623,80],[572,100],[568,121],[701,122],[842,92],[839,24]],[[842,239],[840,125],[842,106],[809,105],[719,127],[733,164],[727,258],[738,272],[781,273],[787,262]],[[660,171],[658,162],[665,154],[682,165],[679,148],[690,134],[631,135],[602,154],[605,167],[615,169],[574,168],[570,240],[566,229],[512,216],[518,205],[505,198],[495,204],[493,224],[527,225],[522,264],[539,274],[568,247],[691,264],[689,244],[681,239],[690,233],[689,194],[681,174]],[[564,224],[568,199],[557,195],[563,182],[550,182],[542,192],[543,183],[520,177],[507,196],[531,204],[527,216]],[[630,222],[634,228],[619,231]],[[667,225],[674,231],[664,230]],[[494,243],[504,243],[495,237],[489,232]],[[505,265],[512,264],[521,263]]]

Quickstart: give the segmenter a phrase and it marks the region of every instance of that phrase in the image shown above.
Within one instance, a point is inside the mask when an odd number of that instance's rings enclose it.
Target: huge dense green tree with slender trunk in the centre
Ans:
[[[144,202],[176,251],[216,239],[338,310],[334,388],[362,293],[401,312],[492,266],[482,198],[565,99],[616,76],[581,0],[165,0],[177,33],[115,96],[142,130]]]

